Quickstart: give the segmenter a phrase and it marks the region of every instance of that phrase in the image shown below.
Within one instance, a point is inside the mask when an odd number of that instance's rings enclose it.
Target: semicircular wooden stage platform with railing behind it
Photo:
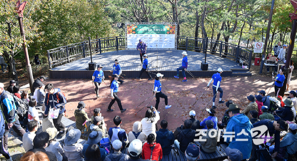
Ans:
[[[181,66],[183,50],[147,50],[146,54],[149,59],[149,70],[153,73],[160,72],[165,77],[176,75],[176,69]],[[238,63],[227,58],[222,58],[217,55],[207,54],[206,63],[208,63],[208,71],[201,70],[201,62],[204,62],[204,54],[187,51],[188,68],[196,77],[211,76],[217,72],[218,68],[223,69],[222,76],[235,76],[235,72],[241,72],[244,76],[249,76],[248,69],[242,69]],[[138,77],[142,68],[140,62],[139,51],[137,50],[120,50],[95,54],[92,56],[93,62],[103,66],[104,76],[111,75],[109,71],[112,69],[115,59],[118,59],[122,69],[123,77]],[[85,57],[64,64],[49,70],[50,78],[92,78],[94,71],[89,71],[89,63],[91,57]],[[158,67],[158,68],[157,68]],[[247,75],[246,75],[247,73]],[[181,72],[180,72],[181,74]],[[154,74],[151,74],[154,77]],[[192,77],[186,72],[187,77]],[[147,75],[142,74],[145,78]]]

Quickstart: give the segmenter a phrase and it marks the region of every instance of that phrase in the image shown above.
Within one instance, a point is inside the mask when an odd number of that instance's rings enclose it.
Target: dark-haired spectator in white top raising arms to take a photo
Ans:
[[[155,134],[156,136],[156,124],[159,119],[159,113],[155,108],[146,110],[145,117],[141,120],[142,132],[146,136],[149,136],[150,134]]]

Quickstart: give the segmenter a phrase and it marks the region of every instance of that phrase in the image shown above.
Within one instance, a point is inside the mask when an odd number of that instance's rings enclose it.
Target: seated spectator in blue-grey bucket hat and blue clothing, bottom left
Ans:
[[[86,151],[88,149],[89,146],[93,145],[93,144],[97,144],[97,146],[100,149],[100,154],[101,154],[101,160],[104,160],[105,157],[107,156],[107,153],[105,151],[104,148],[100,147],[100,140],[102,138],[102,132],[101,131],[93,131],[90,133],[89,137],[88,137],[88,141],[87,144],[83,146],[82,148],[82,153],[84,158],[86,158]]]

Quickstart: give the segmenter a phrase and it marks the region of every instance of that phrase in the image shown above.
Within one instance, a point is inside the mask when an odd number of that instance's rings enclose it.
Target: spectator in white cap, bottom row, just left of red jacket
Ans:
[[[129,154],[129,161],[137,160],[137,161],[149,161],[149,159],[143,160],[140,159],[142,152],[142,142],[139,139],[133,140],[128,148],[128,154]]]

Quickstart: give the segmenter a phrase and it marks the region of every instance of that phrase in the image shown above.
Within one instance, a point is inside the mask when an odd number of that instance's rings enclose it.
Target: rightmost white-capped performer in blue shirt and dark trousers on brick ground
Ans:
[[[214,92],[214,97],[213,97],[213,109],[216,109],[217,107],[215,106],[215,101],[216,101],[216,97],[217,97],[217,93],[220,92],[220,100],[219,100],[219,104],[223,104],[224,103],[224,100],[222,100],[222,97],[223,97],[223,90],[222,88],[220,87],[221,86],[221,82],[222,82],[222,77],[221,77],[221,74],[223,73],[223,70],[221,68],[218,69],[218,72],[216,74],[214,74],[208,85],[207,85],[207,88],[209,87],[210,83],[213,82],[214,80],[214,83],[213,83],[213,92]]]

